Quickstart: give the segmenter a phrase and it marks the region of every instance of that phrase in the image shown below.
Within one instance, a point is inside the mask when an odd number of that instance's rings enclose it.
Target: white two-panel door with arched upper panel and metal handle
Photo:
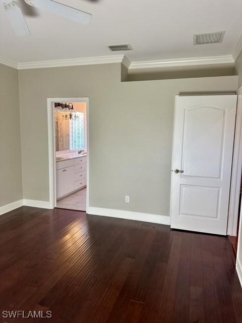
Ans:
[[[171,228],[226,235],[236,102],[176,96]]]

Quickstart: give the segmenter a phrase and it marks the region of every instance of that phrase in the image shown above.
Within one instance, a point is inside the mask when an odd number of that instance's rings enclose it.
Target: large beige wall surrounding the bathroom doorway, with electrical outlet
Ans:
[[[120,69],[19,71],[25,198],[49,199],[46,98],[83,96],[89,97],[90,206],[169,215],[175,95],[234,92],[237,77],[121,82]]]

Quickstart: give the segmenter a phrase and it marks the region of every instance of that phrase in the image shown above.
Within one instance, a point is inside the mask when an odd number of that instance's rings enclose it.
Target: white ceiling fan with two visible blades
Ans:
[[[60,4],[53,0],[24,0],[29,6],[43,9],[56,16],[70,19],[72,21],[88,24],[92,18],[92,15],[81,11],[76,8],[72,8],[63,4]],[[29,27],[25,21],[24,15],[21,11],[20,5],[17,1],[10,1],[4,3],[4,9],[6,10],[12,27],[16,36],[28,36],[30,35]]]

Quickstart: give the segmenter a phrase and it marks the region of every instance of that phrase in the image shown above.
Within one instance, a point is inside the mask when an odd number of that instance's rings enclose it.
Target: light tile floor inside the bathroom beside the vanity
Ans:
[[[57,201],[56,207],[86,211],[87,188],[83,188]]]

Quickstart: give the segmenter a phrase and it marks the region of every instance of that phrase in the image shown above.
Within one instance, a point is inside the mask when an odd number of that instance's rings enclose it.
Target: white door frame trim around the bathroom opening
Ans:
[[[87,203],[86,212],[89,209],[89,97],[50,97],[47,98],[47,119],[48,119],[48,155],[49,155],[49,207],[56,207],[56,161],[55,161],[55,118],[53,102],[86,102],[87,107]]]

